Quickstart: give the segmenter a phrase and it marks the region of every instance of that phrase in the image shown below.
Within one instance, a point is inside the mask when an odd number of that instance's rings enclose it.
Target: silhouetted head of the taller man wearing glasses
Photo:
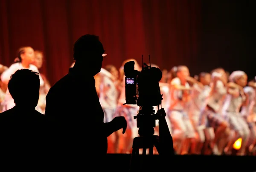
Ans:
[[[99,37],[95,35],[81,36],[73,47],[76,63],[74,69],[84,72],[87,75],[96,75],[102,68],[102,61],[105,50]]]

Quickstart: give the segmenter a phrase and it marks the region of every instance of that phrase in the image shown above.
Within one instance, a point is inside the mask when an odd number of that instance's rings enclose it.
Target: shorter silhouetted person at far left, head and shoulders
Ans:
[[[28,69],[17,70],[9,80],[8,89],[16,105],[0,113],[1,153],[42,156],[47,120],[35,110],[40,89],[38,73]]]

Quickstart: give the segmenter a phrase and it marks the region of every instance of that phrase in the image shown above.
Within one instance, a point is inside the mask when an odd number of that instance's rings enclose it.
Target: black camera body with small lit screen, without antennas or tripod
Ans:
[[[126,104],[139,107],[152,107],[161,104],[162,95],[159,81],[162,71],[144,63],[141,71],[134,70],[134,61],[125,63],[125,100]]]

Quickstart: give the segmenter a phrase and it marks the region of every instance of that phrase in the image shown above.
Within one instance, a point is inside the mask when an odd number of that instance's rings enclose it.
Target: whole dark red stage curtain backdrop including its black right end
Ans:
[[[0,63],[10,66],[20,46],[45,54],[51,84],[73,62],[73,43],[99,35],[107,64],[127,58],[191,74],[223,67],[256,73],[253,0],[0,0]],[[145,59],[146,60],[146,59]],[[148,62],[148,61],[146,61]],[[90,67],[90,64],[85,64]],[[103,66],[103,67],[104,67]]]

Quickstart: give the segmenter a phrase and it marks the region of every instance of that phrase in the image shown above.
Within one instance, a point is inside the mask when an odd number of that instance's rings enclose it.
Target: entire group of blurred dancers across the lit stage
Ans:
[[[106,55],[106,54],[105,54]],[[108,153],[131,153],[133,138],[139,136],[136,119],[139,107],[125,104],[125,76],[123,66],[134,61],[135,70],[141,70],[135,59],[127,59],[122,66],[106,65],[96,74],[96,90],[104,110],[104,121],[125,116],[128,128],[108,137]],[[10,76],[19,69],[40,73],[44,54],[31,47],[21,47],[11,66],[0,65],[0,112],[11,109],[15,102],[7,88]],[[75,62],[74,62],[75,63]],[[74,63],[70,66],[73,67]],[[152,67],[158,67],[151,64]],[[237,70],[231,73],[223,68],[190,76],[189,68],[180,65],[161,69],[159,82],[163,94],[162,105],[173,137],[175,152],[179,155],[230,155],[233,144],[240,139],[237,155],[254,155],[256,151],[256,81],[247,81],[247,74]],[[36,110],[44,114],[46,95],[50,84],[40,73],[40,98]],[[22,90],[21,90],[22,91]],[[154,110],[158,110],[154,107]],[[159,134],[158,121],[154,128]],[[120,131],[122,132],[122,131]],[[157,154],[157,151],[154,151]]]

